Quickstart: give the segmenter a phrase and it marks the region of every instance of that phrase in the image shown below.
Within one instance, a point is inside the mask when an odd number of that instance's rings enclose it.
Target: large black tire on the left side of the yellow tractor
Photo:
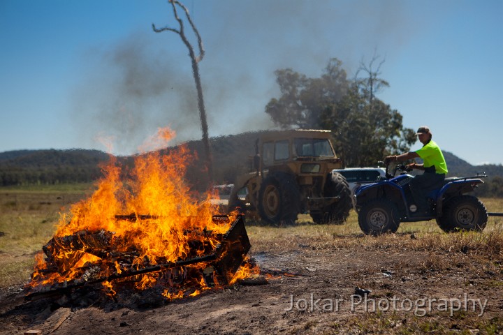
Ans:
[[[300,212],[300,190],[289,174],[265,178],[258,193],[258,214],[274,225],[292,225]]]

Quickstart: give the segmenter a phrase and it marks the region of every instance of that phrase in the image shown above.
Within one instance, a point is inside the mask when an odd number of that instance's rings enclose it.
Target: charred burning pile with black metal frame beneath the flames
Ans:
[[[131,214],[115,218],[138,221],[159,217]],[[62,295],[95,284],[101,284],[101,289],[103,286],[109,287],[113,292],[112,287],[117,285],[153,281],[155,285],[163,285],[166,288],[166,297],[190,291],[189,288],[195,291],[228,285],[245,261],[251,245],[243,216],[215,215],[212,220],[214,223],[230,224],[230,228],[225,234],[214,234],[206,229],[185,231],[194,255],[190,253],[176,262],[168,262],[163,258],[152,262],[147,257],[139,261],[138,251],[115,250],[116,237],[113,232],[105,230],[81,231],[66,237],[54,237],[43,246],[48,267],[32,274],[31,285],[25,288],[25,299]],[[216,245],[215,240],[218,242]],[[54,257],[61,249],[69,251],[65,252],[68,257],[64,260]],[[90,260],[80,264],[83,255],[92,256]],[[45,280],[54,274],[66,274],[69,271],[72,271],[70,280]]]

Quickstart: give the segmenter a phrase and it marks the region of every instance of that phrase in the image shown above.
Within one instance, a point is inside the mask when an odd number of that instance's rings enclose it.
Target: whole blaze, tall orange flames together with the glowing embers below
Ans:
[[[152,142],[159,147],[174,135],[168,128],[159,129]],[[130,280],[138,290],[165,285],[163,296],[177,299],[210,289],[207,278],[218,285],[217,270],[208,262],[166,269],[181,260],[208,258],[238,216],[214,220],[217,205],[210,199],[216,195],[208,191],[201,200],[184,179],[192,161],[184,146],[170,154],[157,150],[138,155],[131,170],[110,155],[96,191],[61,214],[54,238],[44,247],[47,258],[43,253],[36,256],[27,288],[99,278],[105,292],[114,295],[115,285]],[[143,273],[145,268],[153,270]],[[250,273],[242,267],[230,282]],[[185,289],[187,283],[190,290]]]

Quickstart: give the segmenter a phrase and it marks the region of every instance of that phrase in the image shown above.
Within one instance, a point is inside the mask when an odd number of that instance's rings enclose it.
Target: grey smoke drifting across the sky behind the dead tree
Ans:
[[[199,66],[212,137],[272,127],[264,108],[279,94],[275,70],[316,77],[337,57],[351,75],[376,48],[388,54],[399,46],[414,24],[400,1],[256,0],[240,3],[240,13],[233,1],[214,1],[205,13],[198,3],[187,5],[206,50]],[[116,153],[132,154],[163,126],[176,131],[176,142],[201,138],[190,59],[176,34],[133,33],[89,50],[82,64],[74,119],[83,144],[112,135]]]

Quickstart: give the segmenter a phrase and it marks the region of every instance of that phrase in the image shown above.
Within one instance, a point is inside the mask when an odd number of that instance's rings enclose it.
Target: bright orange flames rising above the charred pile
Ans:
[[[160,128],[152,143],[156,146],[166,144],[173,136],[173,131]],[[79,232],[112,232],[115,251],[136,252],[131,262],[136,267],[140,267],[145,260],[150,265],[156,265],[159,260],[164,263],[177,262],[189,255],[203,255],[203,244],[194,249],[194,239],[198,239],[198,234],[187,232],[211,232],[209,236],[205,236],[204,241],[215,248],[219,241],[214,236],[227,232],[235,217],[231,217],[230,223],[215,222],[213,214],[217,212],[217,204],[210,201],[215,194],[208,191],[201,200],[191,192],[184,176],[187,165],[193,160],[194,156],[187,147],[180,146],[169,154],[152,151],[138,155],[134,159],[134,167],[129,170],[121,166],[115,156],[110,155],[110,161],[102,167],[104,177],[96,184],[96,191],[89,198],[73,204],[68,214],[61,214],[54,234],[54,244]],[[133,214],[137,220],[132,222],[117,219],[117,214]],[[148,218],[140,219],[143,215]],[[204,242],[203,237],[199,239]],[[193,243],[190,244],[189,240]],[[61,242],[61,246],[58,245],[52,252],[51,257],[57,263],[59,271],[50,274],[43,271],[48,264],[43,259],[43,253],[36,255],[30,287],[71,281],[81,274],[80,268],[101,260],[98,256],[87,253],[84,248],[74,246],[73,242],[71,248],[63,246]],[[195,266],[197,265],[190,267]],[[101,276],[109,276],[120,274],[122,269],[114,261],[109,267],[102,266],[101,271]],[[249,271],[251,269],[240,269],[235,280],[237,276],[247,276]],[[143,274],[135,287],[140,290],[150,288],[158,280],[159,273]],[[208,289],[202,276],[194,278],[194,282],[197,289],[190,295],[197,295]],[[114,283],[113,280],[103,283],[110,294],[115,292]],[[168,299],[176,299],[184,297],[184,292],[166,290],[163,295]]]

